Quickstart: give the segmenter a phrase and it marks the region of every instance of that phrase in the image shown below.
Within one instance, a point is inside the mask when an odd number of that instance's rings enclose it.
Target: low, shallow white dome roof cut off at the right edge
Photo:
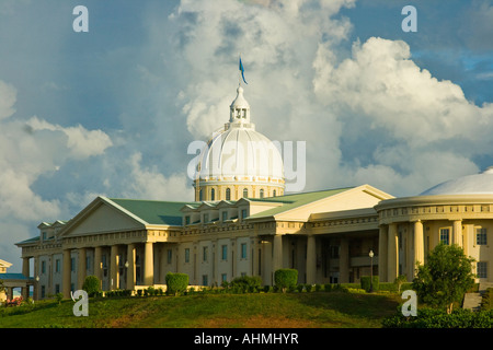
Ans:
[[[436,185],[420,196],[493,194],[493,166],[474,175],[467,175]]]

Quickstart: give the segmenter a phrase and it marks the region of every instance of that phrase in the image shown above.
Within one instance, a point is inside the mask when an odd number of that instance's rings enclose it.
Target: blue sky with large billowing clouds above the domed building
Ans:
[[[187,145],[228,120],[240,52],[257,130],[307,141],[305,190],[478,173],[492,36],[486,0],[2,0],[0,258],[20,271],[15,242],[98,195],[191,200]]]

